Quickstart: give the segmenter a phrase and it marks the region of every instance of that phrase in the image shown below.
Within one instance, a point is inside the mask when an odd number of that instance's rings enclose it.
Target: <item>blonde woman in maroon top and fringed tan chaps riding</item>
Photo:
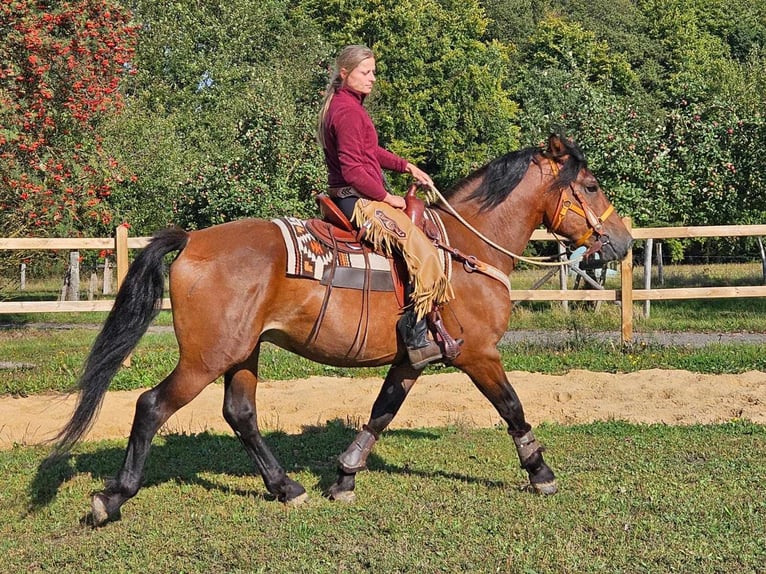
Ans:
[[[433,185],[416,165],[378,144],[378,134],[364,108],[375,84],[375,56],[366,46],[347,46],[338,54],[319,112],[318,139],[328,171],[328,195],[375,245],[396,247],[410,273],[411,305],[399,330],[415,368],[442,358],[430,339],[426,315],[452,298],[436,248],[410,223],[402,209],[404,198],[390,194],[383,169],[411,174],[419,183]],[[392,229],[394,230],[392,232]],[[451,357],[454,358],[454,357]]]

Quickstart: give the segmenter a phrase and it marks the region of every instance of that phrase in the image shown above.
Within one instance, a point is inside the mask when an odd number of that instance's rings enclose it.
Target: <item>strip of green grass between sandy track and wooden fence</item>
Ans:
[[[93,329],[29,329],[0,331],[0,357],[16,363],[0,377],[0,395],[26,396],[62,392],[73,388],[90,345]],[[623,347],[601,342],[582,332],[570,333],[562,341],[525,342],[500,347],[503,365],[509,371],[562,374],[571,369],[609,373],[642,369],[683,369],[698,373],[741,373],[766,371],[766,355],[757,344],[712,344],[706,347],[635,344]],[[173,333],[148,333],[133,354],[130,368],[123,368],[112,381],[112,390],[151,387],[175,366],[178,345]],[[290,380],[312,375],[338,377],[383,377],[387,367],[351,369],[330,367],[297,357],[264,344],[260,374],[268,380]],[[454,369],[429,367],[427,373]]]

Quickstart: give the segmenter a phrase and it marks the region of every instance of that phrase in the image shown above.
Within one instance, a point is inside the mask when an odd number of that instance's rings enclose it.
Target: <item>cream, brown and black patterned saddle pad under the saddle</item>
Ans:
[[[306,228],[302,219],[281,217],[272,219],[282,232],[282,238],[287,248],[286,272],[292,277],[306,277],[320,281],[333,265],[332,249],[318,241]],[[360,253],[338,253],[335,256],[336,272],[341,268],[367,269],[383,271],[390,276],[391,262],[377,253],[369,253],[367,257]]]

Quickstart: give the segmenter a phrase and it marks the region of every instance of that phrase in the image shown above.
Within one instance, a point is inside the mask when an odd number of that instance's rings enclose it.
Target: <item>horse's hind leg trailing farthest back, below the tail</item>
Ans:
[[[136,402],[122,468],[106,489],[91,499],[94,525],[115,518],[120,507],[136,495],[143,482],[146,457],[154,435],[173,413],[196,397],[214,378],[187,373],[179,363],[160,384],[141,394]]]

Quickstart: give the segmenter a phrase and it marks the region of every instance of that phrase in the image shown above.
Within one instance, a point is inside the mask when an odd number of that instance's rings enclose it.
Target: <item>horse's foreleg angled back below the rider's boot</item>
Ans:
[[[372,452],[378,436],[399,412],[420,373],[420,370],[413,369],[409,363],[394,365],[388,371],[378,398],[372,406],[370,420],[338,459],[338,479],[328,491],[332,500],[354,500],[356,473],[367,468],[367,457]]]

